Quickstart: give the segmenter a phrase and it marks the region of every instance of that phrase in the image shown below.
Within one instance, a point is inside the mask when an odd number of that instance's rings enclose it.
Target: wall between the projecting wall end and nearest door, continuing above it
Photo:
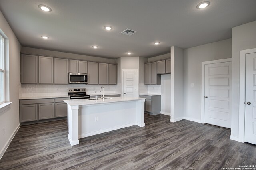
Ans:
[[[231,52],[231,39],[184,49],[184,119],[201,121],[202,62],[231,58]]]

